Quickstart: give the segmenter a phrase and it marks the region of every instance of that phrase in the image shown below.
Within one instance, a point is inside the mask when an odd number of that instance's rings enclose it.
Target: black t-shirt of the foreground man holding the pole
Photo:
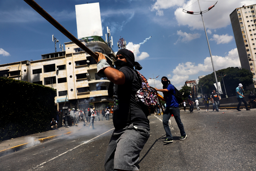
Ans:
[[[129,67],[121,67],[119,71],[124,73],[125,83],[123,85],[114,84],[114,113],[113,123],[115,129],[119,130],[134,123],[149,128],[149,120],[145,113],[148,112],[146,106],[135,100],[136,92],[141,88],[136,71]],[[129,115],[129,106],[131,112]]]

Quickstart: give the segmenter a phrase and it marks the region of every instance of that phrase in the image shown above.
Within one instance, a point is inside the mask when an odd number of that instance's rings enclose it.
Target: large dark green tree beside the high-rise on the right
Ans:
[[[222,89],[223,95],[225,95],[225,89],[223,85],[222,78],[219,77],[226,75],[223,77],[225,88],[227,95],[229,97],[236,96],[236,87],[238,87],[239,83],[243,84],[244,89],[246,86],[249,86],[253,83],[253,73],[246,69],[239,69],[238,67],[228,67],[226,69],[221,69],[216,71],[217,80],[220,82],[220,87]],[[214,73],[211,73],[203,78],[200,79],[199,85],[204,85],[202,90],[205,94],[211,95],[212,90],[216,90],[215,86],[213,85],[216,83]]]

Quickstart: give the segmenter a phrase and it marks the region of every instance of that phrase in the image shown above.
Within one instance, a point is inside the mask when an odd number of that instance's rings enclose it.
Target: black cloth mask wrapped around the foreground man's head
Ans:
[[[115,64],[115,69],[119,70],[121,67],[123,66],[127,66],[131,69],[133,69],[133,67],[135,67],[136,70],[141,70],[142,66],[139,65],[138,62],[135,62],[135,57],[134,54],[132,53],[132,51],[128,50],[128,49],[120,49],[117,52],[117,55],[123,55],[126,59],[127,62],[121,61],[120,59],[117,59],[114,64]]]

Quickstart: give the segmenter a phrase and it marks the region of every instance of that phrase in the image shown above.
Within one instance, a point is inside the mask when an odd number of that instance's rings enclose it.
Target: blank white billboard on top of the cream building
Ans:
[[[77,38],[102,36],[100,3],[75,5]]]

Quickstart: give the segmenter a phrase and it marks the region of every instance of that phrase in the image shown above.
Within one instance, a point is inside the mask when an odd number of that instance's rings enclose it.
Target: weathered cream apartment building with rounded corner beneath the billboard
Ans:
[[[106,56],[113,66],[114,51],[100,36],[85,37],[80,40],[93,52]],[[89,54],[73,42],[65,43],[66,51],[43,54],[36,61],[20,61],[0,65],[0,76],[19,79],[52,87],[56,90],[55,106],[87,110],[90,104],[102,110],[114,99],[108,97],[110,81],[97,75],[97,63]]]

